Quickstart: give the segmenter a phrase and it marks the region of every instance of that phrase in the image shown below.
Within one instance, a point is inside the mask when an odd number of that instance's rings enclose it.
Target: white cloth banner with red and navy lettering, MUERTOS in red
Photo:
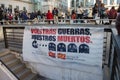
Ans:
[[[103,31],[93,27],[26,26],[23,59],[48,65],[101,66]]]

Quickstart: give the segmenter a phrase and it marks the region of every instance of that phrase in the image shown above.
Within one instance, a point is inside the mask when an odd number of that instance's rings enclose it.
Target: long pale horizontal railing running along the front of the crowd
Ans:
[[[53,24],[52,21],[54,21],[54,24],[95,24],[95,21],[97,24],[101,24],[100,21],[104,21],[104,23],[107,22],[105,25],[109,25],[109,20],[112,20],[113,23],[115,23],[115,19],[40,19],[38,20],[33,19],[33,20],[2,20],[3,25],[31,25],[31,24],[48,24],[48,21],[50,21],[50,24]],[[83,22],[81,22],[83,21]]]

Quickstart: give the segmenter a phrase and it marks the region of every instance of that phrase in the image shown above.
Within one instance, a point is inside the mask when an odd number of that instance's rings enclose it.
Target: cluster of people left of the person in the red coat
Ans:
[[[9,22],[12,23],[14,22],[18,22],[18,21],[26,21],[26,20],[33,20],[35,18],[37,19],[42,19],[45,16],[45,13],[41,13],[41,11],[35,11],[35,12],[31,12],[28,13],[27,10],[17,10],[15,9],[14,12],[12,12],[12,10],[8,10],[8,9],[3,9],[0,7],[0,21],[1,24],[3,24],[3,20],[4,22]]]

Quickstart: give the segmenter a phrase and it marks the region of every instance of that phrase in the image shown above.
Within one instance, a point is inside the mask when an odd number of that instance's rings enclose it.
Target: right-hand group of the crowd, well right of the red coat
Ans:
[[[112,6],[110,9],[105,7],[104,3],[95,4],[92,8],[82,9],[80,6],[77,11],[72,11],[72,19],[94,19],[95,24],[111,24],[114,19],[116,19],[117,14],[120,13],[120,6],[115,9]],[[100,19],[99,23],[96,22],[96,19]],[[104,22],[104,20],[109,20],[108,22]],[[83,20],[79,20],[81,23],[84,23]],[[75,20],[75,22],[79,22]],[[89,20],[88,20],[89,21]]]

